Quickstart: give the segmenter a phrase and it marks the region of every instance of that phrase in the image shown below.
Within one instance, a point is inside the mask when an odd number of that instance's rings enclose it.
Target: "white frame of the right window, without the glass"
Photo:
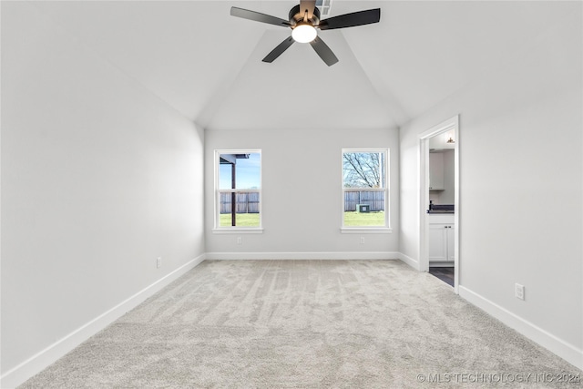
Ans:
[[[384,153],[384,188],[344,188],[344,154],[347,153]],[[342,187],[342,213],[341,213],[341,232],[342,233],[392,233],[390,205],[391,199],[389,197],[391,176],[389,175],[391,150],[390,148],[343,148],[341,151],[340,163],[340,179]],[[345,193],[347,191],[384,191],[384,226],[344,226],[344,201],[346,199]]]

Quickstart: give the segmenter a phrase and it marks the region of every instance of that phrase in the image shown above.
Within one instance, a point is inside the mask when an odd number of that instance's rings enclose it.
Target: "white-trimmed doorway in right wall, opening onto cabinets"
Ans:
[[[461,212],[459,115],[449,118],[419,135],[419,149],[419,270],[429,271],[430,265],[432,268],[434,265],[440,268],[453,267],[453,286],[454,292],[457,293],[460,273],[459,220]],[[442,157],[432,158],[431,154],[442,154]],[[449,155],[445,157],[443,156],[445,154]],[[435,165],[430,164],[430,159],[436,159],[438,162],[441,160],[439,163],[443,164],[444,159],[450,160],[452,157],[454,171],[453,174],[449,172],[449,182],[445,183],[443,176],[439,178],[439,169],[435,169]],[[439,163],[436,165],[439,166]],[[432,166],[434,171],[431,171]],[[449,192],[445,195],[446,190]],[[445,201],[448,203],[434,203],[435,200],[440,199],[447,199]],[[430,247],[430,241],[434,245],[437,244],[437,248]],[[437,272],[444,273],[446,271],[445,269],[437,269]]]

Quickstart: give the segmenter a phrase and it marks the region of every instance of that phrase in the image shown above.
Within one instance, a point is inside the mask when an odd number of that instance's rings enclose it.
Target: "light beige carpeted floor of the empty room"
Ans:
[[[21,387],[580,387],[562,373],[400,261],[204,261]]]

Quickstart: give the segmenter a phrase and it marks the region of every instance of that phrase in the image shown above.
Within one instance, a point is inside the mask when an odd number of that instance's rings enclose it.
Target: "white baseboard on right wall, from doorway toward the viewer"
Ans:
[[[568,363],[583,370],[583,350],[578,349],[552,333],[548,333],[532,322],[517,316],[515,313],[506,310],[495,302],[491,302],[485,297],[473,292],[464,286],[459,286],[459,295],[476,307],[494,316],[500,322],[504,322],[508,327],[513,328],[518,333],[523,334],[531,341],[545,347],[551,353],[557,354]]]

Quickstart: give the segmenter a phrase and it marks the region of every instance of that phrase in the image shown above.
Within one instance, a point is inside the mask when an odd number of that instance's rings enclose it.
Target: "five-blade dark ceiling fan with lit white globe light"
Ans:
[[[288,47],[292,46],[294,42],[299,42],[312,45],[318,56],[322,58],[322,61],[330,67],[338,62],[338,58],[334,56],[330,47],[318,36],[317,30],[332,30],[378,23],[381,19],[381,8],[368,9],[366,11],[353,12],[320,20],[320,10],[316,7],[316,1],[302,0],[300,1],[300,5],[296,5],[290,10],[288,20],[236,6],[230,8],[230,15],[256,22],[268,23],[270,25],[292,28],[292,36],[271,50],[271,53],[263,58],[263,62],[273,62]]]

